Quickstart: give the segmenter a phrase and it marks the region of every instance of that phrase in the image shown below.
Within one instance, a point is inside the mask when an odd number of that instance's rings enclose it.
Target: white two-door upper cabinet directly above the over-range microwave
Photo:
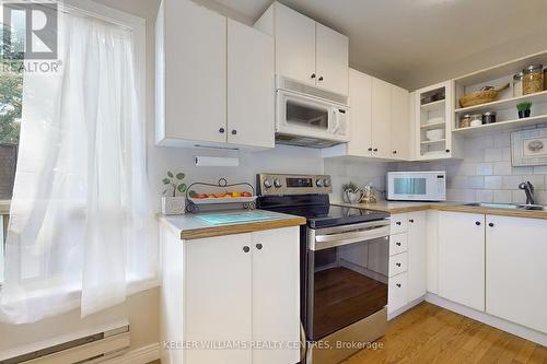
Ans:
[[[348,37],[274,2],[255,27],[276,38],[276,73],[348,94]]]

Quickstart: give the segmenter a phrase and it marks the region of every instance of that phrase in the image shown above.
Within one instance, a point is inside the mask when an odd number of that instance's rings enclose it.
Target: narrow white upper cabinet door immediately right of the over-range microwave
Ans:
[[[349,70],[350,136],[348,154],[371,156],[372,148],[372,78],[357,70]]]

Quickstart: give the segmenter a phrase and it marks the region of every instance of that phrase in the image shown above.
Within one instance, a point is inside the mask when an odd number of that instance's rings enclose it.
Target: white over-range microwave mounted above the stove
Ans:
[[[276,142],[327,148],[349,141],[348,97],[277,77]]]

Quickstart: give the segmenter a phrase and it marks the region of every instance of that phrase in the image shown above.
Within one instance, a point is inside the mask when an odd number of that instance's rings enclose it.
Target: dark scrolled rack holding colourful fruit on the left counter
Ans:
[[[214,187],[217,190],[222,190],[221,193],[209,193],[211,196],[222,196],[228,192],[228,189],[231,187],[244,187],[246,189],[245,192],[251,196],[241,196],[241,197],[207,197],[207,198],[196,198],[190,196],[193,192],[191,187],[195,186],[206,186],[206,187]],[[199,193],[198,193],[199,195]],[[225,178],[220,178],[217,185],[208,184],[208,183],[194,183],[186,189],[186,211],[188,212],[197,212],[199,210],[199,206],[205,204],[225,204],[225,203],[241,203],[243,209],[254,210],[256,208],[256,193],[253,185],[247,183],[237,183],[237,184],[228,184]]]

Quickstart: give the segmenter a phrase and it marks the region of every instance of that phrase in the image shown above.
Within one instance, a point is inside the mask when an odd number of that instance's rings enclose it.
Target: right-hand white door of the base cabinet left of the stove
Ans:
[[[300,340],[300,227],[253,233],[253,340]],[[298,348],[254,350],[253,363],[300,361]]]

